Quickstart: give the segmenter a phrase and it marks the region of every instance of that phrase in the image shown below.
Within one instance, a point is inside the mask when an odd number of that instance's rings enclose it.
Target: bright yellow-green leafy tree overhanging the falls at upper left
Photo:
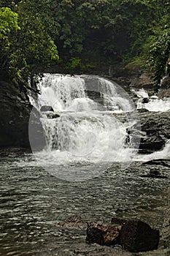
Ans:
[[[41,67],[58,63],[57,46],[51,37],[53,20],[47,16],[46,1],[41,5],[44,12],[42,9],[36,12],[38,1],[34,4],[31,1],[3,2],[4,6],[10,4],[15,12],[9,7],[0,8],[0,76],[30,89],[28,77],[34,76]]]

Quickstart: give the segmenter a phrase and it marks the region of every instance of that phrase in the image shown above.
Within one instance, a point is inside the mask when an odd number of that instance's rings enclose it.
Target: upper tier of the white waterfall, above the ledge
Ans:
[[[55,111],[133,110],[125,92],[116,83],[93,75],[44,74],[41,94],[33,105],[50,105]]]

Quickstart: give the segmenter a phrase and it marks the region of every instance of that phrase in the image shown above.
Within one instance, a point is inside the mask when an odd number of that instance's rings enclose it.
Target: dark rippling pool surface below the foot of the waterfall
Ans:
[[[139,162],[124,171],[115,163],[103,176],[68,182],[36,162],[30,165],[31,158],[1,158],[0,255],[58,255],[62,250],[67,255],[71,244],[85,241],[85,230],[57,225],[73,214],[102,222],[138,217],[161,229],[169,180],[140,177],[147,170]],[[169,176],[167,167],[161,171]]]

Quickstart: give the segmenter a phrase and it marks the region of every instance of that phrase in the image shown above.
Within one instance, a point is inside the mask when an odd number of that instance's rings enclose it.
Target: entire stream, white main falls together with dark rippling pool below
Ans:
[[[169,142],[137,154],[139,116],[125,91],[104,78],[58,74],[45,74],[39,89],[32,104],[54,110],[41,116],[45,148],[0,161],[0,255],[75,255],[85,230],[58,227],[74,214],[107,223],[137,217],[161,230],[169,179],[142,177],[155,170],[142,162],[168,158]],[[169,167],[158,168],[169,177]],[[168,255],[162,239],[159,250]]]

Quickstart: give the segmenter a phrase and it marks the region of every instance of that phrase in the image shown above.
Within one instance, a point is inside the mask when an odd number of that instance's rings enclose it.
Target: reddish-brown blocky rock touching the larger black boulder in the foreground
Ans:
[[[88,225],[86,242],[107,246],[115,245],[119,240],[120,228],[92,222]]]

